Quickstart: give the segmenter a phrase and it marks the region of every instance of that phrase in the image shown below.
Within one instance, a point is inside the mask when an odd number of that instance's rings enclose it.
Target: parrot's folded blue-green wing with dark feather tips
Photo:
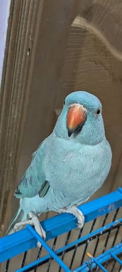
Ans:
[[[45,180],[44,162],[45,144],[43,141],[33,154],[32,162],[14,192],[17,198],[33,197],[37,194],[43,197],[47,193],[49,182]]]

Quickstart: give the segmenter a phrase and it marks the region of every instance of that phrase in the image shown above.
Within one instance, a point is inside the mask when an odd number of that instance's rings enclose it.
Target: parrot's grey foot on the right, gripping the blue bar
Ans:
[[[67,212],[73,214],[77,218],[78,228],[82,229],[85,218],[83,213],[76,206],[60,209],[60,212]]]

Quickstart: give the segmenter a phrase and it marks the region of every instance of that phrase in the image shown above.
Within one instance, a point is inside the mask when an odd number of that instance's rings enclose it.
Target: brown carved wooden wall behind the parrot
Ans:
[[[94,197],[122,183],[121,12],[121,0],[12,0],[1,88],[2,234],[18,205],[13,191],[71,91],[103,104],[113,161]]]

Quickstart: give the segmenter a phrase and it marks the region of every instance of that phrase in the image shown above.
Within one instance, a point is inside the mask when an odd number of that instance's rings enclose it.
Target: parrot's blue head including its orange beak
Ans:
[[[102,105],[86,91],[70,93],[65,101],[54,131],[60,138],[94,145],[105,136]]]

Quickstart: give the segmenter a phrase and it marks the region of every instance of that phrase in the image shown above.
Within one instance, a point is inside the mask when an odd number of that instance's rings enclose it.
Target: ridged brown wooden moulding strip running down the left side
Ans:
[[[12,1],[1,88],[1,232],[10,221],[13,187],[29,96],[38,1]],[[38,34],[38,32],[37,32]],[[36,37],[35,37],[36,38]],[[31,49],[33,53],[31,54]],[[28,55],[29,50],[29,55]],[[35,56],[35,54],[34,54]]]

